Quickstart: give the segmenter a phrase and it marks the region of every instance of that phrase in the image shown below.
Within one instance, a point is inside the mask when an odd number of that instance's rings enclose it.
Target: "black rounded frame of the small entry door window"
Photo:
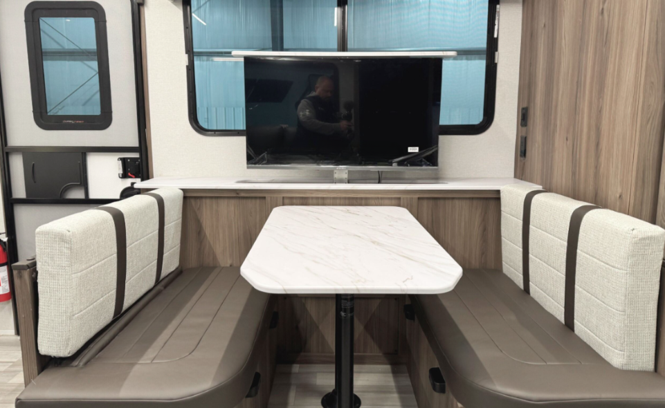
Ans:
[[[97,68],[100,84],[99,115],[49,115],[46,108],[44,58],[39,19],[42,17],[92,18],[95,21],[97,42]],[[109,46],[106,14],[95,1],[33,1],[26,7],[26,37],[30,93],[33,100],[33,118],[44,130],[104,130],[111,126],[111,75],[109,73]]]

